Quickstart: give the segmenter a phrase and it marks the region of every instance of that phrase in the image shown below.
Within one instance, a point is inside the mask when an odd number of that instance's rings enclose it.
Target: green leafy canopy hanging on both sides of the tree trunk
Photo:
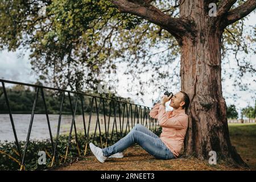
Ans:
[[[96,90],[104,76],[115,71],[117,63],[127,63],[125,74],[133,76],[132,80],[141,80],[141,73],[152,71],[152,76],[159,75],[159,89],[166,85],[163,81],[166,78],[172,86],[179,87],[175,81],[179,77],[179,62],[175,60],[180,56],[180,47],[166,30],[138,16],[119,13],[106,0],[43,2],[47,5],[46,16],[38,15],[38,1],[0,2],[0,49],[30,49],[32,69],[41,80],[63,89]],[[233,8],[243,2],[238,0]],[[179,7],[170,1],[157,0],[151,4],[179,18]],[[229,64],[230,53],[255,52],[255,38],[244,30],[245,19],[225,29],[222,64]],[[231,72],[224,69],[223,73],[230,77],[255,73],[246,59],[237,59],[237,64],[236,69]],[[167,71],[160,69],[163,67]],[[246,88],[241,79],[234,84]],[[138,94],[143,96],[146,86],[140,86]]]

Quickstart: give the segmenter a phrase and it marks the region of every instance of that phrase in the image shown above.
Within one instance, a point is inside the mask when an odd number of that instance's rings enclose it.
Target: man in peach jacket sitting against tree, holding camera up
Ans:
[[[170,101],[172,111],[166,112],[166,102]],[[133,129],[112,146],[101,149],[90,143],[90,150],[96,158],[104,163],[109,158],[122,158],[122,151],[134,143],[138,143],[156,159],[174,159],[179,156],[188,127],[188,115],[185,110],[189,106],[189,97],[185,92],[178,92],[172,98],[163,96],[160,103],[156,104],[149,115],[158,119],[162,127],[160,138],[143,125],[135,125]]]

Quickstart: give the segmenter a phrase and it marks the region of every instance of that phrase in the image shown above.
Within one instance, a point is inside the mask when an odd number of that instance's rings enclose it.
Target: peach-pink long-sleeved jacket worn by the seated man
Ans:
[[[188,115],[185,114],[185,110],[166,112],[166,107],[158,103],[152,108],[149,115],[158,119],[159,125],[162,127],[160,139],[177,158],[188,127]]]

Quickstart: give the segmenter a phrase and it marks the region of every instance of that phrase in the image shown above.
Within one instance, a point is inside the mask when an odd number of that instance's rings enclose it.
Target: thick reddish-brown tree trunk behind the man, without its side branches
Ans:
[[[196,4],[199,3],[199,4]],[[222,28],[200,7],[204,1],[184,1],[181,18],[195,21],[195,36],[185,35],[181,44],[181,90],[189,95],[189,124],[184,141],[185,155],[217,159],[246,166],[229,138],[226,103],[221,86]],[[218,162],[218,161],[217,161]]]

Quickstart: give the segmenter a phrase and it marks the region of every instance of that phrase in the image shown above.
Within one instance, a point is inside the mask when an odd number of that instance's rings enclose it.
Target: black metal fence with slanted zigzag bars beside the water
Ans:
[[[63,104],[65,100],[68,100],[70,108],[71,108],[71,113],[72,113],[72,122],[71,126],[69,129],[69,135],[68,135],[68,143],[67,143],[67,149],[65,151],[65,159],[64,163],[66,162],[67,155],[68,155],[68,150],[71,145],[71,137],[73,133],[73,129],[75,130],[75,142],[76,142],[76,148],[77,148],[77,156],[82,156],[82,155],[87,155],[88,154],[88,143],[89,142],[94,142],[94,138],[96,136],[96,133],[98,131],[100,135],[100,143],[101,146],[109,146],[109,144],[112,143],[113,139],[113,134],[114,130],[115,133],[118,135],[119,133],[119,139],[124,137],[130,129],[136,124],[140,123],[144,126],[146,126],[148,129],[150,129],[153,132],[156,132],[159,130],[159,123],[157,119],[153,119],[149,116],[150,108],[142,105],[137,105],[137,104],[132,104],[129,102],[124,102],[124,101],[117,101],[117,100],[112,100],[110,98],[104,98],[104,97],[98,97],[98,96],[92,96],[90,94],[86,93],[81,93],[81,92],[73,92],[70,90],[63,90],[63,89],[57,89],[57,88],[50,88],[47,86],[43,85],[34,85],[34,84],[26,84],[23,82],[15,82],[15,81],[9,81],[9,80],[2,80],[0,79],[0,82],[2,83],[2,92],[3,96],[5,97],[5,102],[7,106],[7,110],[9,112],[9,117],[10,117],[10,122],[11,122],[11,127],[13,130],[14,138],[15,138],[15,145],[16,149],[19,154],[19,165],[20,165],[20,170],[25,169],[24,166],[26,164],[26,152],[28,145],[30,143],[30,134],[32,130],[32,125],[34,121],[34,116],[35,116],[35,110],[36,110],[36,104],[38,102],[39,97],[42,98],[43,100],[43,107],[44,107],[44,114],[46,114],[46,122],[48,125],[48,132],[49,132],[49,139],[51,140],[51,148],[52,148],[52,154],[51,154],[51,167],[53,166],[53,163],[55,165],[58,165],[58,140],[60,136],[60,126],[61,126],[61,115],[63,111]],[[28,86],[31,88],[35,89],[35,98],[34,98],[34,104],[32,106],[32,111],[31,111],[31,117],[30,117],[30,123],[28,126],[28,131],[27,131],[27,138],[26,138],[26,143],[23,148],[20,147],[19,144],[19,139],[16,134],[16,129],[15,129],[15,123],[14,123],[14,118],[12,114],[12,109],[11,105],[9,102],[9,97],[7,93],[7,89],[5,84],[14,84],[14,85],[24,85]],[[57,132],[56,132],[56,138],[53,139],[52,137],[52,131],[51,131],[51,122],[49,119],[49,114],[48,114],[48,105],[47,105],[47,98],[45,95],[46,90],[53,90],[55,92],[59,92],[61,96],[61,102],[60,102],[60,107],[59,107],[59,119],[57,122]],[[71,96],[75,97],[75,106],[72,104],[72,99]],[[68,98],[67,98],[68,97]],[[89,121],[86,121],[85,119],[85,111],[84,111],[84,98],[88,97],[90,99],[90,106],[86,106],[89,108]],[[98,100],[100,100],[98,104]],[[80,101],[80,102],[79,102]],[[83,135],[84,135],[84,148],[80,148],[79,146],[79,140],[77,139],[77,128],[76,128],[76,113],[78,110],[78,103],[80,103],[80,109],[82,110],[82,123],[83,123]],[[108,106],[109,110],[106,111],[105,107]],[[93,113],[93,108],[95,108],[96,111],[96,121],[93,121],[92,113]],[[100,123],[100,108],[102,112],[102,118],[104,118],[104,123],[101,119]],[[122,111],[121,109],[122,108]],[[113,115],[113,117],[112,117]],[[95,119],[94,118],[94,119]],[[108,118],[108,119],[106,119]],[[110,118],[113,120],[112,124],[112,130],[110,130]],[[126,122],[125,122],[126,119]],[[119,123],[118,123],[119,120]],[[86,128],[86,122],[88,122],[88,127]],[[96,122],[96,125],[94,126],[94,131],[90,129],[90,127],[93,127],[92,123]],[[95,123],[94,123],[95,124]],[[104,126],[104,131],[102,131],[101,126]],[[119,126],[119,127],[118,127]],[[89,141],[89,135],[91,135],[93,132],[93,139],[92,141]],[[111,133],[111,135],[110,135]],[[105,141],[102,140],[102,134],[105,134]]]

